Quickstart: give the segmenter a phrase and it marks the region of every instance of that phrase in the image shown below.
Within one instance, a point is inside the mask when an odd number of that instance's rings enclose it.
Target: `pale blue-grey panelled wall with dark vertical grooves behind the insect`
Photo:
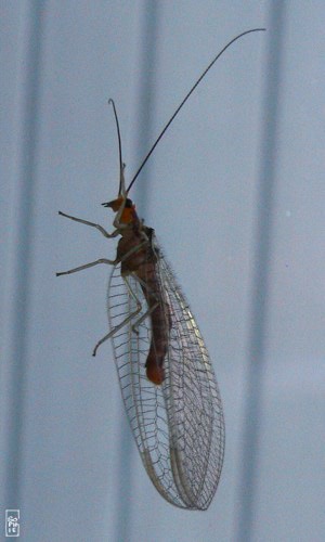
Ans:
[[[322,541],[325,5],[4,1],[1,40],[1,499],[26,541]],[[242,31],[133,191],[214,363],[226,423],[210,508],[156,493],[107,328],[118,108],[127,176]]]

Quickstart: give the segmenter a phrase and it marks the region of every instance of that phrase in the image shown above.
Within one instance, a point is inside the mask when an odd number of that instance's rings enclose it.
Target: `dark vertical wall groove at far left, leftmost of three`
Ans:
[[[42,39],[42,13],[44,2],[29,3],[25,25],[25,56],[22,60],[23,88],[22,129],[18,150],[17,202],[13,224],[15,251],[12,267],[11,296],[8,319],[9,356],[5,372],[5,507],[21,507],[23,473],[23,431],[25,423],[26,349],[29,313],[30,257],[32,234],[32,208],[37,163],[39,121],[40,62]]]

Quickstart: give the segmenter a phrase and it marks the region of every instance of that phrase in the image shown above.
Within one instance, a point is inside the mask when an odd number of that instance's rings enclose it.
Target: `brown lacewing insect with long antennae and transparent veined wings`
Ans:
[[[164,133],[221,54],[246,34],[230,41],[197,79],[157,138],[128,188],[121,137],[113,105],[119,146],[119,190],[104,203],[116,212],[115,230],[58,212],[98,229],[105,237],[120,236],[114,260],[86,263],[64,275],[105,263],[108,282],[109,333],[129,423],[144,464],[158,490],[171,504],[206,509],[217,490],[224,455],[224,420],[220,392],[205,343],[191,309],[167,263],[155,232],[144,224],[129,192]]]

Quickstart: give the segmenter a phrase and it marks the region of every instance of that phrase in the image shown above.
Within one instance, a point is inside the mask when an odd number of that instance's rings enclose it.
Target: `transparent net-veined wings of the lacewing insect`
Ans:
[[[147,317],[136,325],[147,306],[132,275],[128,281],[142,310],[113,336],[115,361],[127,416],[154,486],[176,506],[205,509],[217,490],[223,462],[222,403],[199,330],[170,267],[159,254],[160,301],[164,307],[168,304],[171,318],[165,380],[156,386],[145,374],[151,320]],[[108,285],[110,328],[135,309],[118,266]]]

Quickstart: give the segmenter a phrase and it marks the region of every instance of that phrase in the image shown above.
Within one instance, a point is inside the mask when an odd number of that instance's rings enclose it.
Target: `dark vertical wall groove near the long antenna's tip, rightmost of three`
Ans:
[[[277,165],[277,136],[280,124],[280,92],[282,79],[282,49],[285,22],[285,1],[271,3],[268,25],[269,51],[265,78],[263,131],[258,186],[256,248],[251,293],[248,370],[245,388],[245,418],[243,455],[240,457],[239,507],[235,540],[253,539],[258,490],[258,460],[262,426],[263,383],[270,300],[270,264],[272,261],[272,230]]]

